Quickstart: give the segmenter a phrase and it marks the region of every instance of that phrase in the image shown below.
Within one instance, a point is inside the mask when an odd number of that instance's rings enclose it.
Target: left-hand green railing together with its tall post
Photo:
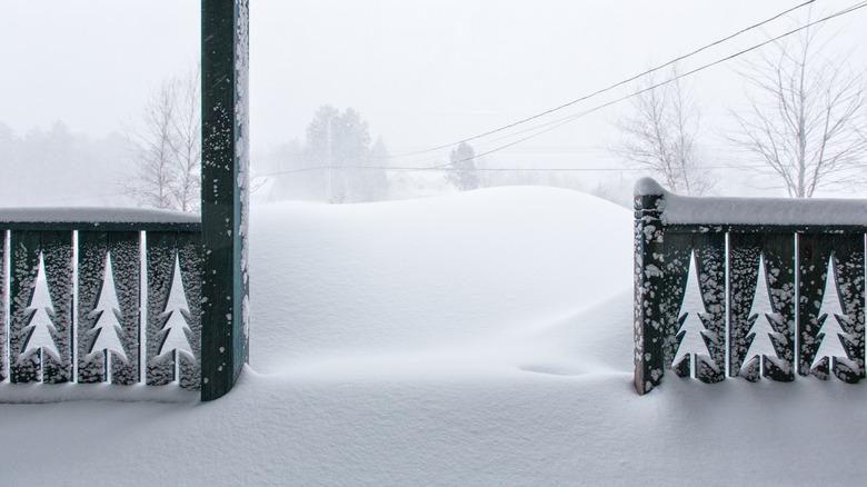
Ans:
[[[213,400],[240,377],[250,327],[249,0],[202,0],[200,27],[201,219],[0,210],[0,382],[177,380]]]

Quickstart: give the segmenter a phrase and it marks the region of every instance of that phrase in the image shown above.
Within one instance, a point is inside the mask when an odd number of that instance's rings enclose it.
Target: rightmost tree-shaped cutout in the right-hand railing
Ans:
[[[840,296],[837,290],[837,271],[834,266],[834,256],[828,262],[828,277],[825,280],[825,292],[819,306],[819,332],[816,339],[819,341],[819,349],[813,359],[810,369],[820,378],[827,378],[831,360],[838,360],[846,364],[851,370],[857,371],[858,366],[849,360],[849,356],[844,347],[848,338],[846,329],[853,329],[855,324],[843,310]]]

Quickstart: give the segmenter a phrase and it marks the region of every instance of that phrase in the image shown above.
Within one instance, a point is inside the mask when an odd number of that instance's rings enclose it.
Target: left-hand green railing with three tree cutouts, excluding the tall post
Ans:
[[[200,388],[198,216],[7,209],[0,242],[0,380]]]

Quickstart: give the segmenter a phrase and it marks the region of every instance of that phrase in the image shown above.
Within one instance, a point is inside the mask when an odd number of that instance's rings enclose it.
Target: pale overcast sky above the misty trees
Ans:
[[[392,152],[450,142],[594,91],[798,1],[250,3],[257,155],[302,139],[313,110],[325,103],[360,110]],[[853,3],[818,0],[813,14]],[[162,79],[198,62],[199,6],[195,0],[0,0],[0,122],[19,133],[56,120],[92,135],[122,130]],[[681,70],[788,30],[793,22],[777,21]],[[828,29],[840,31],[835,49],[854,49],[856,62],[867,60],[867,9],[834,20]],[[726,111],[743,102],[735,68],[728,63],[689,80],[704,109],[708,146],[718,143],[715,135],[727,123]],[[497,155],[496,161],[617,165],[605,148],[625,107],[596,112]],[[477,149],[505,141],[482,141]]]

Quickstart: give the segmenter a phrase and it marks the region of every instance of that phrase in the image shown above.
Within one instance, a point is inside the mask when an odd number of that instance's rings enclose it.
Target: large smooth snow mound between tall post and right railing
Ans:
[[[535,187],[262,207],[251,230],[252,368],[477,354],[628,289],[631,231],[621,207]]]

